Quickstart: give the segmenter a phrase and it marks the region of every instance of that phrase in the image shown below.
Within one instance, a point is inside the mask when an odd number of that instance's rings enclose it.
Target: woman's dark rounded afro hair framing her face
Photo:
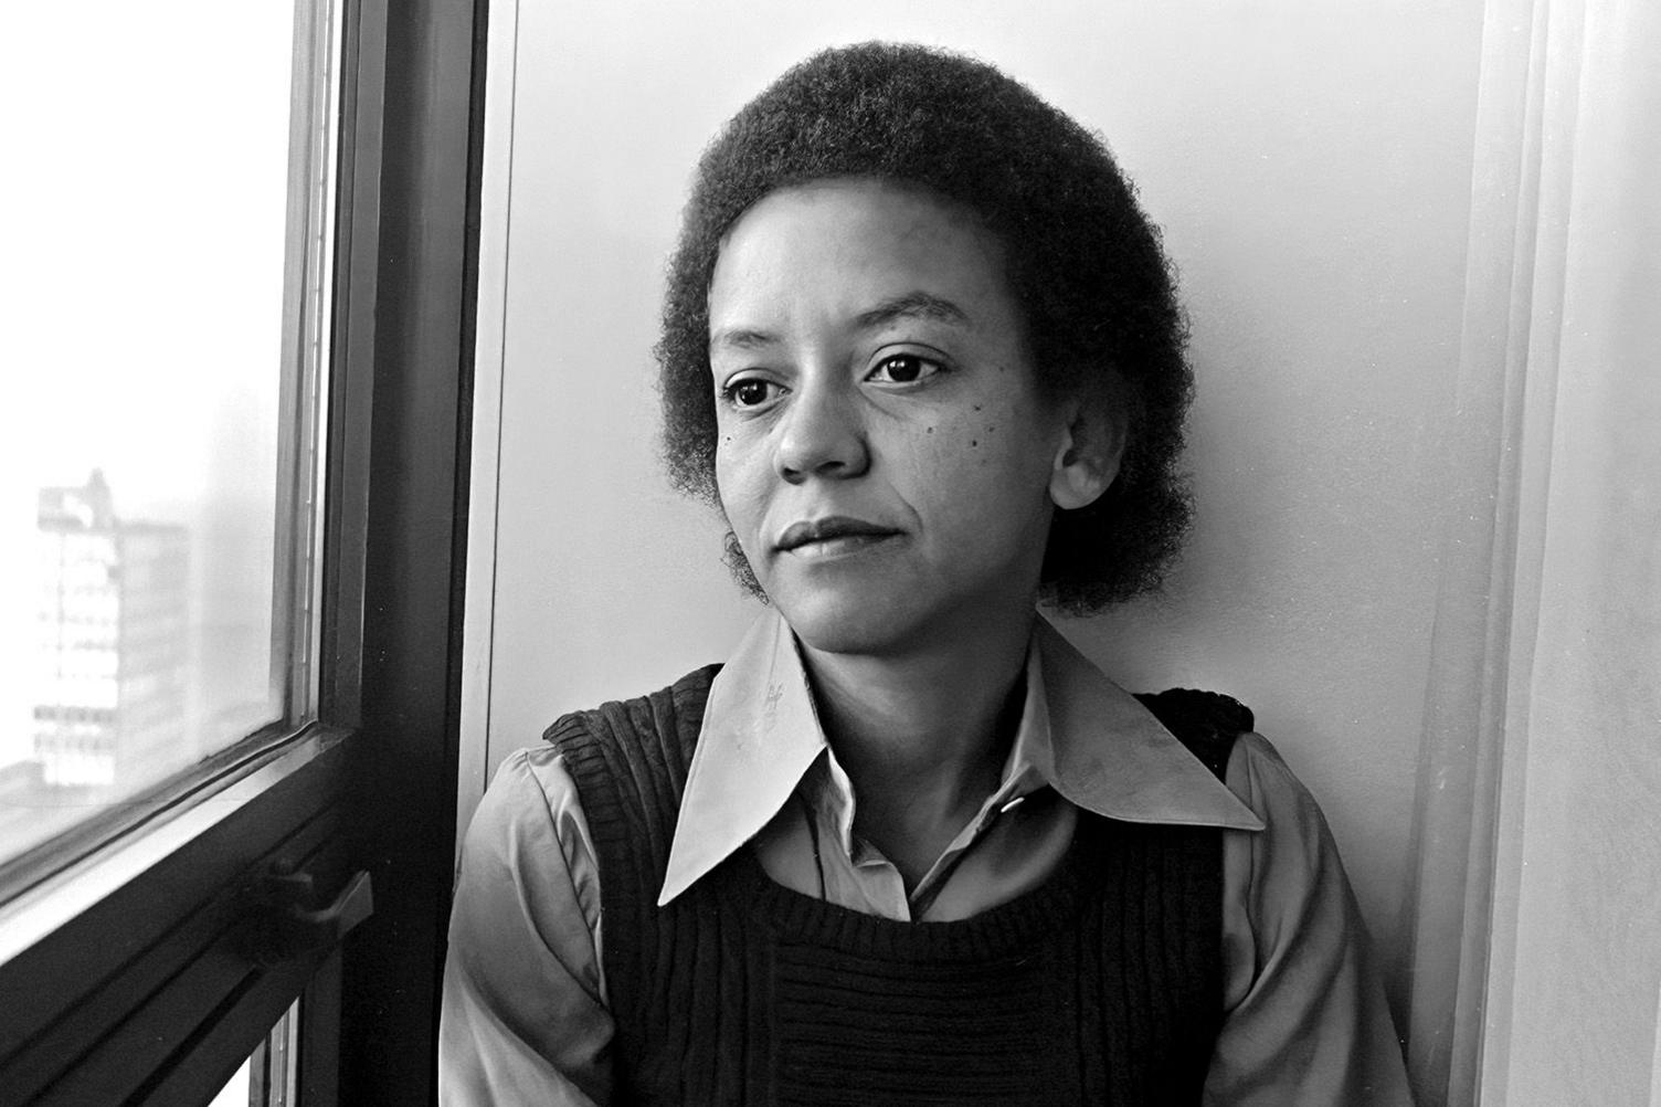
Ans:
[[[709,283],[723,236],[762,196],[827,178],[932,189],[1002,241],[1040,386],[1051,396],[1106,389],[1128,427],[1113,487],[1055,512],[1040,598],[1083,615],[1156,590],[1189,520],[1178,457],[1193,394],[1158,231],[1100,136],[997,68],[928,47],[824,50],[704,150],[656,346],[674,485],[719,507]],[[747,565],[734,572],[757,590]]]

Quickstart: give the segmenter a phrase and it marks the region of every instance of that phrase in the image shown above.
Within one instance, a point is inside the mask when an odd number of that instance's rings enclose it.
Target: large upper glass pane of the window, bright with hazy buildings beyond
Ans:
[[[17,17],[0,861],[286,713],[322,206],[294,7]]]

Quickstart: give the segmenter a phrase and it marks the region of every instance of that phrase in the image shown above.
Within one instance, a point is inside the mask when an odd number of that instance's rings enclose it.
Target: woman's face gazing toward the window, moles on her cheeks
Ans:
[[[970,213],[867,180],[769,194],[716,261],[709,361],[721,504],[809,647],[1031,617],[1068,417]]]

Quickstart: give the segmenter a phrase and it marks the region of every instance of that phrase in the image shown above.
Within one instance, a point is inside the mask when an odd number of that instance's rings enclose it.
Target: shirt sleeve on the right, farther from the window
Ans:
[[[1224,1007],[1206,1104],[1410,1107],[1402,1050],[1337,844],[1261,735],[1229,788],[1266,823],[1224,838]]]

